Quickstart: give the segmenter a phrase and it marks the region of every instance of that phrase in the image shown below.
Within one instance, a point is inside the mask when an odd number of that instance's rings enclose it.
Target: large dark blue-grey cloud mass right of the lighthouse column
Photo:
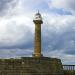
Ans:
[[[72,19],[71,19],[72,20]],[[58,23],[57,23],[58,24]],[[43,51],[62,51],[64,54],[75,54],[75,22],[66,23],[65,29],[62,30],[63,24],[60,30],[50,25],[50,29],[43,27],[42,29],[42,49]],[[61,22],[59,22],[61,24]],[[44,32],[45,31],[45,32]],[[57,32],[58,31],[58,32]]]

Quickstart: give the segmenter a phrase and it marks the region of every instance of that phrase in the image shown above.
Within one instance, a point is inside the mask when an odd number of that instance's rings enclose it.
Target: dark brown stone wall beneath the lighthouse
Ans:
[[[54,58],[0,59],[0,75],[63,75],[63,69]]]

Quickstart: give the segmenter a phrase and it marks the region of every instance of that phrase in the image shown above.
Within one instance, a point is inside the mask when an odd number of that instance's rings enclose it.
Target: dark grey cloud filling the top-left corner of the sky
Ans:
[[[0,16],[4,16],[15,4],[16,0],[0,0]]]

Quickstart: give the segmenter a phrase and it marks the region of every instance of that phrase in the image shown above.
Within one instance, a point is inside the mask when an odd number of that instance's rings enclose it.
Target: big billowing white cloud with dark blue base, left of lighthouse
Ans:
[[[6,34],[3,36],[5,41],[0,41],[0,49],[33,48],[33,33],[26,25],[8,24]]]

